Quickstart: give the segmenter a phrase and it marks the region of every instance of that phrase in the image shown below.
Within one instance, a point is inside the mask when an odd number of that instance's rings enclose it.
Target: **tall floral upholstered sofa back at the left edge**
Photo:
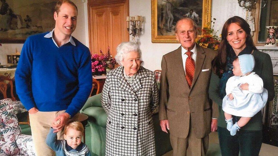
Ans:
[[[0,100],[0,155],[18,155],[16,138],[21,133],[11,99]]]

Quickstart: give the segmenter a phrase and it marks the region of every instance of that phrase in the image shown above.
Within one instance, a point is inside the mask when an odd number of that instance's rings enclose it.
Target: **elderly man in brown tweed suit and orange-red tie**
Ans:
[[[217,128],[209,102],[211,61],[216,51],[195,44],[196,24],[190,18],[177,22],[181,46],[163,56],[160,83],[160,126],[170,131],[173,155],[205,155],[208,134]]]

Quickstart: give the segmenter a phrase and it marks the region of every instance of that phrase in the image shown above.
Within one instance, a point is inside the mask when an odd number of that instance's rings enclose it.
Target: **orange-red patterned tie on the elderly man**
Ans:
[[[187,51],[185,54],[188,55],[188,57],[185,61],[185,72],[186,72],[185,78],[187,80],[189,87],[191,87],[193,76],[194,76],[195,63],[191,57],[191,55],[192,55],[191,51]]]

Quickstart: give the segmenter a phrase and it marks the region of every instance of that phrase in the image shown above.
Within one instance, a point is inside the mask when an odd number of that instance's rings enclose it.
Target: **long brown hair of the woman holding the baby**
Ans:
[[[215,74],[217,74],[219,77],[222,77],[222,74],[226,70],[226,59],[227,56],[235,56],[234,50],[230,44],[228,44],[227,35],[228,35],[228,27],[231,23],[238,24],[247,34],[246,38],[246,46],[252,47],[253,50],[257,49],[253,43],[253,39],[251,36],[251,29],[249,24],[241,17],[234,16],[229,18],[221,32],[221,41],[218,49],[218,55],[214,58],[212,61],[212,68]]]

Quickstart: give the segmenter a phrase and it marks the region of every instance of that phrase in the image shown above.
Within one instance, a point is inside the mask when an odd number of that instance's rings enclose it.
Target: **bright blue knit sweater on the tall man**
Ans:
[[[15,72],[16,91],[24,107],[39,111],[66,110],[71,117],[86,102],[92,88],[89,49],[73,38],[57,47],[47,33],[26,39]]]

